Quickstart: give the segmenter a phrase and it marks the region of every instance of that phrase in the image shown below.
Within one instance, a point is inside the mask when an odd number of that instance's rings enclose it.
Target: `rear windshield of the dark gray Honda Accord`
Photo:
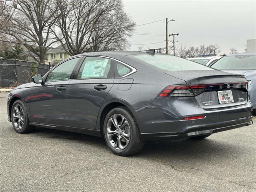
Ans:
[[[202,64],[171,55],[142,54],[130,56],[166,71],[214,70]]]

